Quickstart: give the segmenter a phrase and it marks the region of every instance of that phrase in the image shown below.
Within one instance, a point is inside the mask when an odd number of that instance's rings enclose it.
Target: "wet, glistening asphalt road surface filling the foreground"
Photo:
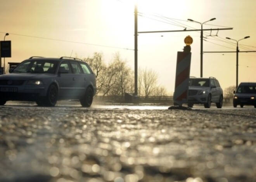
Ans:
[[[255,182],[253,107],[0,107],[1,182]]]

